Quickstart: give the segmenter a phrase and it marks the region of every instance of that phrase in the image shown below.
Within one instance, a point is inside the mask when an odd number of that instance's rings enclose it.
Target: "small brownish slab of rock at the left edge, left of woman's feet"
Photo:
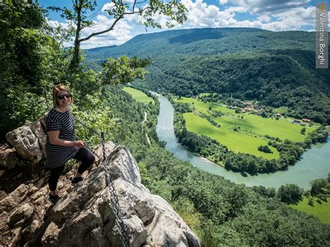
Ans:
[[[2,212],[10,212],[11,209],[16,207],[19,202],[21,202],[25,198],[28,192],[28,186],[26,186],[25,184],[19,185],[17,189],[15,189],[15,191],[9,194],[8,197],[0,201],[0,214]]]

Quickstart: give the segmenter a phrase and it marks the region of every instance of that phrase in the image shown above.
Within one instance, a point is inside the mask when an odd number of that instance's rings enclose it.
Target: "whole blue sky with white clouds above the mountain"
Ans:
[[[127,0],[132,2],[133,0]],[[139,1],[139,0],[138,0]],[[189,10],[187,21],[173,29],[193,29],[205,27],[251,27],[269,31],[315,31],[315,0],[179,0]],[[325,1],[327,3],[327,1]],[[70,8],[72,0],[38,0],[40,6]],[[111,8],[111,1],[97,0],[97,7],[92,15],[94,26],[81,33],[84,38],[91,33],[103,31],[113,23],[113,19],[105,12]],[[329,15],[330,16],[330,15]],[[163,16],[156,17],[165,23]],[[68,26],[59,13],[49,10],[50,26],[61,24]],[[83,49],[121,45],[141,33],[153,33],[168,29],[146,29],[139,23],[137,15],[127,15],[121,19],[113,31],[97,35],[81,43]],[[66,43],[65,46],[70,44]]]

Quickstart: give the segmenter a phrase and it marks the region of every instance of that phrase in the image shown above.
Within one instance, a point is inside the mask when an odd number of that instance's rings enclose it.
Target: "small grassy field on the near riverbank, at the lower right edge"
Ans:
[[[322,204],[318,203],[316,198],[314,198],[314,206],[312,207],[308,205],[308,198],[304,197],[298,205],[290,205],[290,207],[300,212],[311,214],[319,218],[321,222],[330,225],[330,198],[328,198],[327,202],[322,201]]]

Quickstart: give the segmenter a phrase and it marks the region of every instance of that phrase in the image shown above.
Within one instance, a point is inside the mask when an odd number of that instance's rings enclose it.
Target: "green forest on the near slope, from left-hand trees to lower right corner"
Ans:
[[[1,136],[41,118],[51,107],[52,86],[65,83],[74,94],[74,117],[88,126],[77,123],[79,138],[95,147],[100,140],[90,131],[94,129],[104,132],[107,140],[127,145],[138,161],[143,184],[173,205],[203,246],[329,243],[329,225],[291,209],[283,200],[283,194],[295,198],[296,188],[285,193],[251,189],[198,170],[164,150],[156,134],[159,105],[134,101],[120,85],[142,79],[148,61],[119,57],[107,59],[102,70],[70,67],[72,50],[61,43],[63,30],[47,25],[47,11],[31,1],[5,2],[0,15]],[[141,125],[144,111],[148,123]]]

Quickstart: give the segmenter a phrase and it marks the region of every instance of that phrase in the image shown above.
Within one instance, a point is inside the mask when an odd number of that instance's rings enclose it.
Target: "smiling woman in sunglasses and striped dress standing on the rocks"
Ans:
[[[45,116],[47,127],[46,152],[50,168],[49,200],[54,205],[58,201],[56,193],[58,178],[63,173],[66,161],[71,158],[81,161],[77,174],[72,179],[72,184],[80,182],[82,180],[81,174],[95,161],[94,154],[85,148],[85,143],[76,141],[74,118],[70,113],[72,103],[73,96],[67,86],[54,86],[54,108]]]

